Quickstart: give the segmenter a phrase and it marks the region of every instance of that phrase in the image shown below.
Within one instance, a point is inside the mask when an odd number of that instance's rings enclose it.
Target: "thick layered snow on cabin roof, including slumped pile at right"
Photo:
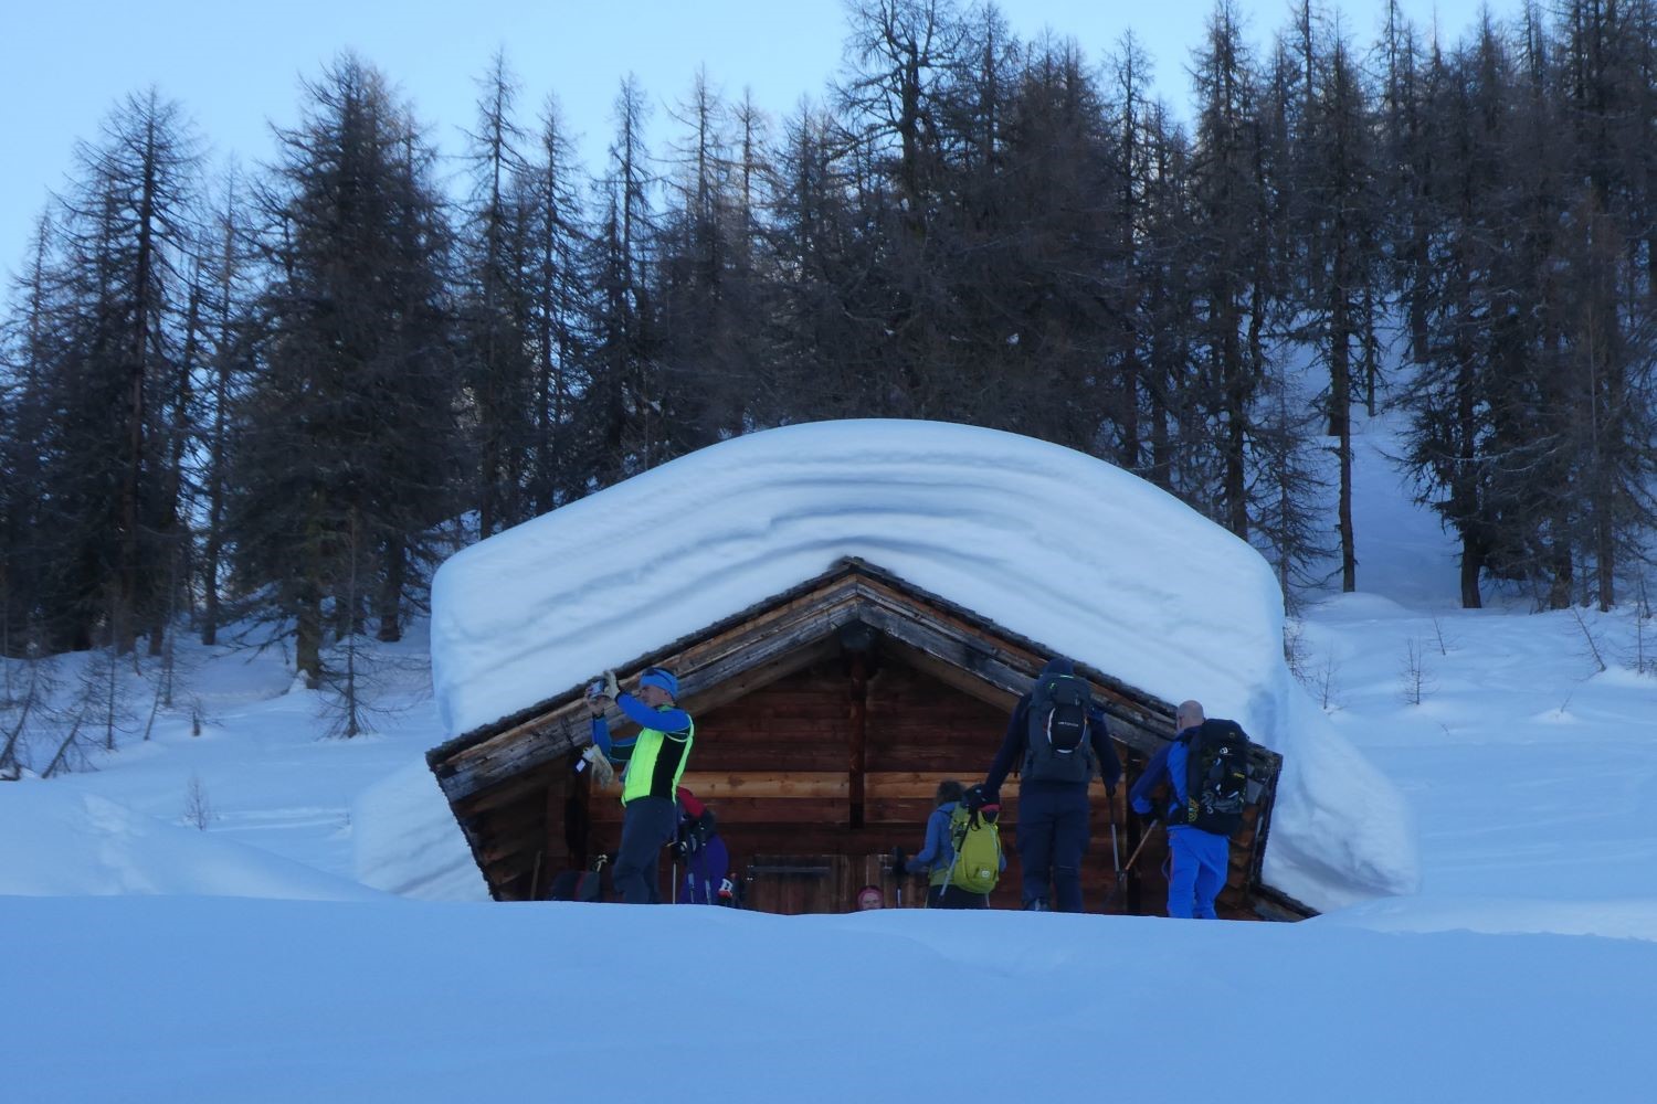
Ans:
[[[1289,677],[1264,559],[1120,468],[969,425],[752,434],[461,551],[432,584],[442,723],[487,725],[843,556],[1281,751],[1278,889],[1332,907],[1413,887],[1402,799]]]

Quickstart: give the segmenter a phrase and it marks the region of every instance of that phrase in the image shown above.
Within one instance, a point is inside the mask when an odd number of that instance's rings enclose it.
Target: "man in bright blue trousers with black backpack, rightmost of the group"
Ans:
[[[1158,819],[1168,826],[1168,915],[1213,920],[1231,862],[1231,834],[1243,824],[1249,742],[1234,720],[1205,718],[1200,702],[1180,705],[1175,728],[1128,801],[1147,831]],[[1158,808],[1153,791],[1162,785],[1168,796]]]

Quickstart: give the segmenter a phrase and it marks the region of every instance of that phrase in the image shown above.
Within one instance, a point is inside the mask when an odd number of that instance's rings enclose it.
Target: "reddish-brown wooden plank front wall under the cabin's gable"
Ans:
[[[938,781],[973,785],[984,778],[1006,732],[1004,708],[963,694],[913,667],[886,659],[870,664],[863,801],[853,801],[853,725],[857,680],[850,659],[828,659],[696,718],[696,746],[684,778],[714,809],[732,856],[732,871],[756,874],[749,905],[769,912],[847,912],[857,889],[877,882],[896,904],[886,856],[901,846],[921,849]],[[1118,748],[1120,751],[1122,748]],[[1092,846],[1082,889],[1090,910],[1104,907],[1114,886],[1112,808],[1094,783]],[[1001,836],[1007,871],[991,905],[1019,907],[1017,781],[1002,788]],[[1122,823],[1123,790],[1115,798],[1122,859],[1138,842]],[[592,849],[613,851],[621,808],[613,796],[592,798]],[[1140,864],[1147,872],[1155,841]],[[1160,864],[1160,857],[1157,859]],[[661,886],[668,889],[668,861]],[[1155,876],[1152,882],[1157,881]],[[905,882],[903,904],[918,905],[925,879]],[[1165,887],[1147,886],[1160,904]]]

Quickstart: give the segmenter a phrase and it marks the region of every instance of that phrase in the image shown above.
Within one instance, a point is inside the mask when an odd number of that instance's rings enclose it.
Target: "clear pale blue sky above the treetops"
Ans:
[[[1289,0],[1238,0],[1256,41],[1289,23]],[[1332,7],[1332,5],[1326,5]],[[1518,0],[1493,0],[1498,15]],[[1185,65],[1213,0],[1004,0],[1014,33],[1075,38],[1099,61],[1128,26],[1155,61],[1158,91],[1186,103]],[[1341,3],[1359,41],[1380,25],[1380,0]],[[1405,13],[1445,38],[1473,22],[1475,0],[1403,0]],[[446,151],[469,126],[476,79],[497,48],[522,79],[534,118],[555,93],[601,164],[620,79],[635,73],[656,104],[679,99],[698,66],[729,98],[785,114],[820,98],[840,66],[840,0],[0,0],[0,270],[15,271],[46,194],[61,187],[78,137],[91,137],[126,93],[156,84],[194,118],[217,156],[270,156],[268,124],[295,119],[300,78],[356,50],[414,101]]]

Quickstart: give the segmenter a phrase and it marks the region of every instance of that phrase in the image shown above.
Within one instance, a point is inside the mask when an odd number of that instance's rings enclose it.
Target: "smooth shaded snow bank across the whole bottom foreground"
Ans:
[[[1650,1091],[1630,1056],[1650,1034],[1657,947],[1635,940],[391,897],[0,899],[0,930],[28,934],[28,953],[0,957],[0,1038],[8,1099],[31,1104],[921,1101],[961,1078],[1017,1099],[1092,1099],[1102,1082],[1163,1099],[1186,1068],[1170,1046],[1196,1025],[1274,1101]],[[626,1030],[693,977],[674,1030]],[[936,1025],[963,978],[989,1000],[949,1048],[983,1061],[958,1076],[925,1049],[900,1056],[903,1026]],[[1112,1046],[1056,1043],[1082,1025],[1122,1030]]]

